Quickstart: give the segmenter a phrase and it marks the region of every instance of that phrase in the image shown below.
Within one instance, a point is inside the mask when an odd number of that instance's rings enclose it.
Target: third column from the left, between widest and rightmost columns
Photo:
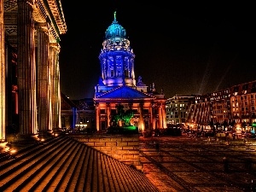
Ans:
[[[51,125],[50,76],[49,76],[49,36],[47,23],[36,25],[38,32],[38,136],[47,135]]]

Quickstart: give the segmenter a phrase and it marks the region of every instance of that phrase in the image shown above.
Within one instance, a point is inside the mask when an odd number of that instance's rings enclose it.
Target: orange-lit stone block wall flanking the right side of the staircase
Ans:
[[[95,148],[137,170],[143,170],[139,155],[139,135],[69,134],[81,143]]]

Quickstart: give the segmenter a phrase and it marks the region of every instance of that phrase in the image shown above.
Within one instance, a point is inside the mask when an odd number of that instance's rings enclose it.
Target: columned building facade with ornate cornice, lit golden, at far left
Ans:
[[[20,139],[61,126],[59,43],[66,32],[60,0],[1,1],[1,141],[9,126]]]

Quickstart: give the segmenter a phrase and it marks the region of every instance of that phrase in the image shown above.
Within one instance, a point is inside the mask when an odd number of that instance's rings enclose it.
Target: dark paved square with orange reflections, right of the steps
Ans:
[[[216,140],[140,137],[143,172],[161,192],[256,191],[256,140]]]

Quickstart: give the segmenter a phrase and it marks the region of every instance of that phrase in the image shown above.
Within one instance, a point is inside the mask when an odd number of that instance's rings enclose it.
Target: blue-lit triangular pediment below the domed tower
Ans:
[[[96,99],[154,99],[154,96],[150,96],[147,93],[132,89],[128,86],[121,86],[113,90],[109,90],[100,96],[96,96]]]

